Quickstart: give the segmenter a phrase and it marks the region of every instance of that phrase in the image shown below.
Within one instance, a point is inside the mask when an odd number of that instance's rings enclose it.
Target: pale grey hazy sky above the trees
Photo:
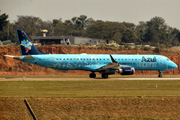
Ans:
[[[179,5],[180,0],[0,0],[0,14],[8,14],[10,22],[17,21],[18,15],[39,17],[43,21],[86,15],[94,20],[136,25],[158,16],[180,30]]]

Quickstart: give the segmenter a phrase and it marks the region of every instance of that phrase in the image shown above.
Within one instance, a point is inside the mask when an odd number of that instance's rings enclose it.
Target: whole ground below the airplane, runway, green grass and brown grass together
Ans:
[[[39,120],[180,119],[179,78],[2,75],[0,119],[32,120],[24,99]]]

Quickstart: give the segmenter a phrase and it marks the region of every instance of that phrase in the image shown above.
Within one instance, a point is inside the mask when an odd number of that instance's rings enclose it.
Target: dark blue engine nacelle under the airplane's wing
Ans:
[[[134,67],[123,67],[118,70],[118,73],[121,75],[132,75],[135,73]]]

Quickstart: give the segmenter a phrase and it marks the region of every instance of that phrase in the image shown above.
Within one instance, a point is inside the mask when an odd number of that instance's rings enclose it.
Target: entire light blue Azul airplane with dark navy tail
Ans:
[[[102,78],[116,72],[121,75],[132,75],[135,70],[157,70],[158,77],[165,70],[173,70],[178,66],[162,55],[127,55],[127,54],[46,54],[39,51],[23,30],[16,30],[21,56],[4,55],[14,59],[43,67],[59,70],[91,71],[90,78],[95,78],[95,72]]]

